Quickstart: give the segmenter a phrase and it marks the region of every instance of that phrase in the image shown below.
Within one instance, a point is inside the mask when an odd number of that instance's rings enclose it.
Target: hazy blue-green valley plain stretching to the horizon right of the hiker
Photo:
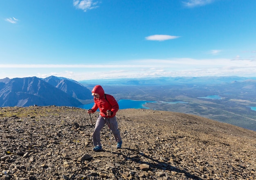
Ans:
[[[79,81],[151,110],[193,114],[256,131],[256,77],[157,77]],[[152,102],[153,101],[153,102]]]

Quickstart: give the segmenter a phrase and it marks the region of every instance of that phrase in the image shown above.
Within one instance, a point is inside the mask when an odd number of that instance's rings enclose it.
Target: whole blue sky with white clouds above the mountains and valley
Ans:
[[[256,77],[256,0],[1,0],[0,79]]]

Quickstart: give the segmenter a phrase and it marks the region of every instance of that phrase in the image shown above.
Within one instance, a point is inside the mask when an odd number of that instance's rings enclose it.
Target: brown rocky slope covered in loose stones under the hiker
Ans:
[[[0,108],[0,179],[256,180],[254,131],[155,110],[119,110],[117,121],[122,148],[111,134],[111,150],[106,126],[94,152],[84,109]]]

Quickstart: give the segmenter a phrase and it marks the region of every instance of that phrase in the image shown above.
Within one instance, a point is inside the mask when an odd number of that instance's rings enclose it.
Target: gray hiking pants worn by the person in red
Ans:
[[[120,136],[120,132],[118,130],[116,116],[109,118],[109,121],[110,121],[110,130],[114,134],[115,141],[120,142],[121,136]],[[100,131],[102,130],[102,128],[104,127],[105,124],[107,124],[109,127],[108,118],[104,118],[101,115],[99,115],[99,118],[96,121],[94,132],[92,135],[92,141],[93,141],[94,146],[97,146],[97,145],[101,146]]]

